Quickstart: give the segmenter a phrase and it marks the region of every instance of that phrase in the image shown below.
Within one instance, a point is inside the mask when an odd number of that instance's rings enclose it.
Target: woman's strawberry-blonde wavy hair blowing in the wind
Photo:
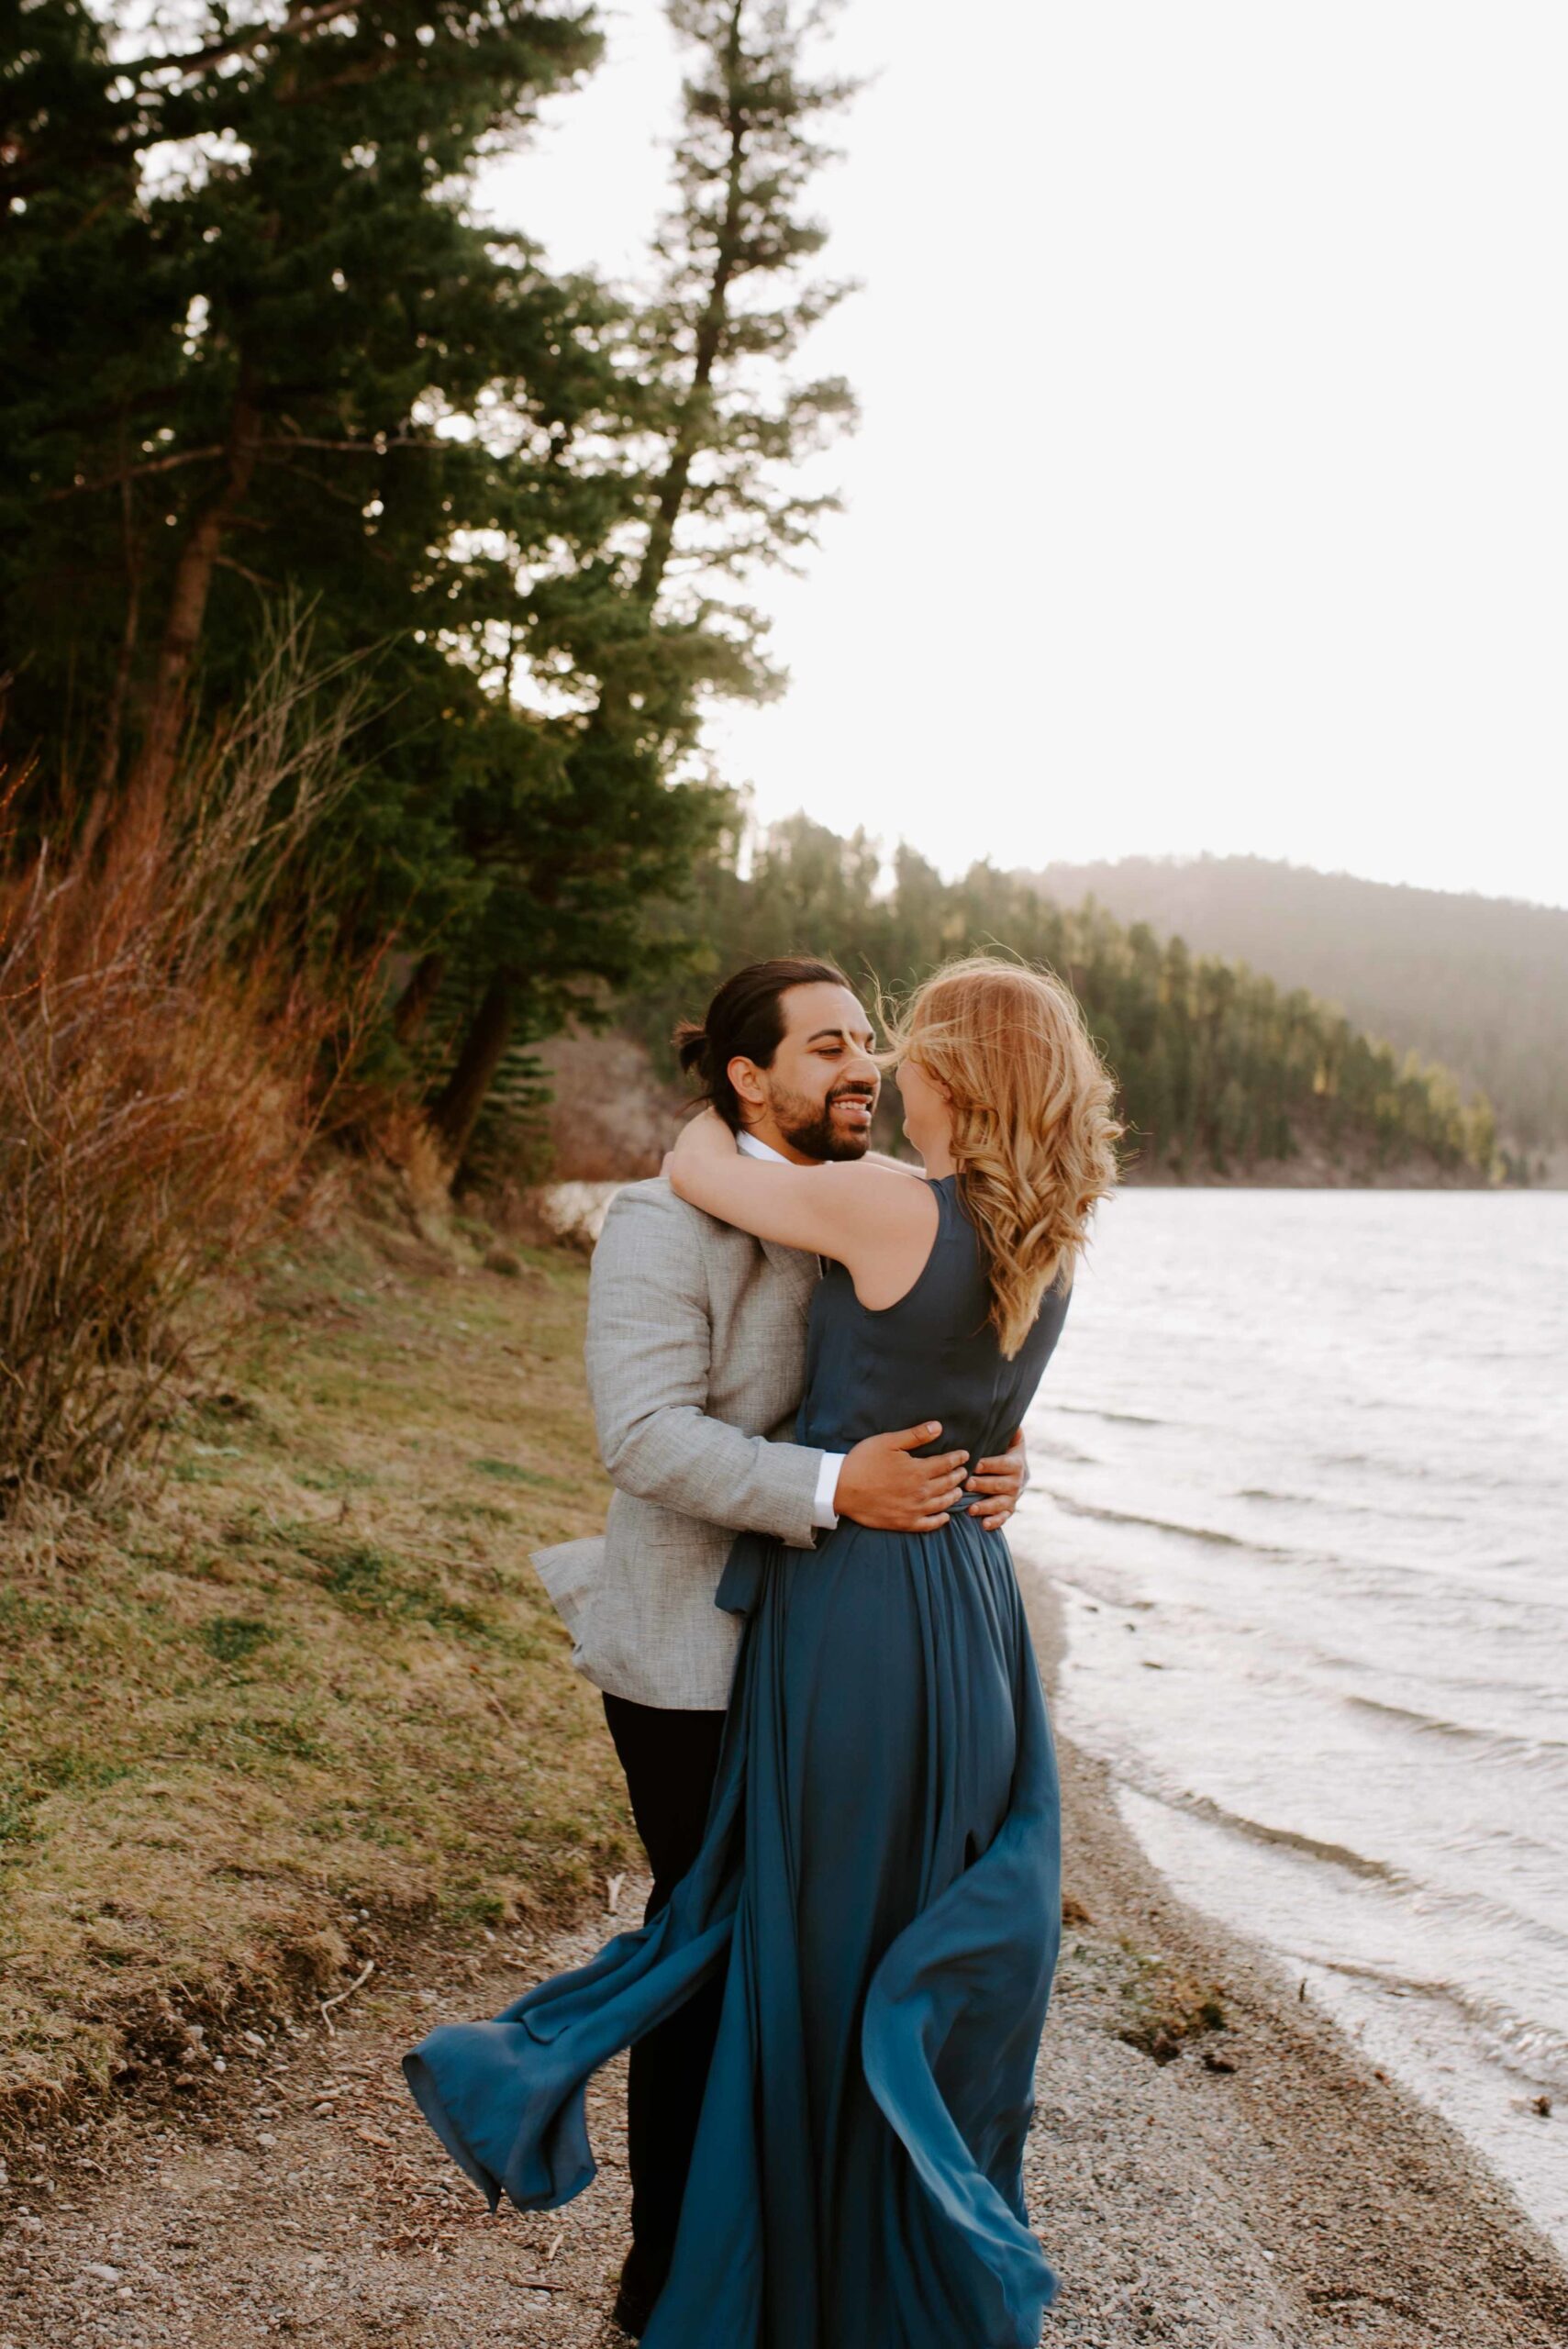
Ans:
[[[1012,1360],[1045,1292],[1070,1285],[1089,1217],[1115,1189],[1110,1073],[1073,991],[995,954],[944,963],[901,1010],[880,1012],[887,1057],[913,1059],[953,1095],[958,1193]]]

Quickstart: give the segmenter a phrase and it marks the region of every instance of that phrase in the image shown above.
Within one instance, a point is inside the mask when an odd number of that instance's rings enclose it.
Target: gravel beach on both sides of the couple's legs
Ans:
[[[1049,1687],[1059,1614],[1021,1574]],[[1068,1931],[1028,2149],[1061,2274],[1045,2342],[1563,2349],[1568,2269],[1479,2159],[1263,1952],[1174,1900],[1066,1741],[1061,1766]],[[491,2013],[587,1957],[641,1886],[615,1896],[570,1933],[390,1947],[336,2032],[256,2032],[195,2107],[35,2142],[0,2194],[0,2349],[610,2349],[624,2067],[592,2091],[594,2187],[491,2220],[397,2060],[434,2015]]]

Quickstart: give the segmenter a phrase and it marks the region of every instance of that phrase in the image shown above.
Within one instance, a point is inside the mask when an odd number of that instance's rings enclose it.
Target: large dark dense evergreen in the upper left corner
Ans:
[[[157,813],[197,662],[218,693],[244,665],[256,587],[319,594],[361,644],[411,630],[415,599],[418,618],[455,606],[472,627],[462,531],[519,503],[479,404],[521,395],[545,435],[570,435],[584,413],[599,425],[610,381],[584,343],[592,294],[552,287],[462,214],[479,150],[596,54],[584,19],[354,0],[282,21],[214,5],[197,23],[178,52],[127,56],[122,38],[106,56],[80,7],[38,0],[14,59],[5,296],[26,366],[0,425],[23,458],[19,716],[49,740],[61,674],[96,688],[101,775],[129,752],[120,820]],[[61,92],[47,63],[70,35]],[[115,270],[115,301],[82,301]],[[533,472],[540,543],[601,524],[592,500],[573,507],[570,467]],[[129,693],[106,686],[117,672],[77,620],[96,583],[127,606]]]

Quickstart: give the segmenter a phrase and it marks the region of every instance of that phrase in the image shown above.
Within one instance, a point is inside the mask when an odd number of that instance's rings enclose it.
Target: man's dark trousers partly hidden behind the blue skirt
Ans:
[[[702,1846],[723,1712],[674,1712],[603,1698],[631,1816],[653,1867],[648,1917],[657,1917]],[[634,2041],[627,2077],[627,2161],[631,2168],[631,2257],[622,2297],[653,2309],[676,2248],[681,2196],[697,2140],[702,2091],[714,2058],[723,1971],[674,2015]]]

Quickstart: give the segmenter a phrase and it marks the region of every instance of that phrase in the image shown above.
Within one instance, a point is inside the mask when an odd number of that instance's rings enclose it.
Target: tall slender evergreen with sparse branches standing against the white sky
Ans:
[[[822,9],[671,0],[669,16],[690,45],[692,73],[676,146],[678,204],[657,240],[662,284],[631,345],[650,425],[629,484],[638,529],[606,566],[599,693],[563,787],[538,799],[526,822],[486,836],[491,893],[465,958],[472,1010],[434,1102],[453,1156],[467,1149],[514,1041],[559,1022],[561,998],[540,1005],[530,984],[540,923],[592,933],[606,968],[617,951],[631,956],[643,907],[615,886],[599,810],[615,810],[617,834],[636,827],[631,787],[690,759],[707,695],[775,691],[765,625],[730,583],[810,543],[833,500],[800,496],[791,472],[852,413],[843,381],[793,383],[784,373],[845,291],[807,275],[826,235],[803,209],[829,153],[819,122],[850,96],[845,82],[805,70]],[[709,820],[718,820],[716,808]],[[695,846],[690,836],[678,843],[671,886],[690,871]],[[415,972],[415,994],[446,977],[448,958],[432,954]],[[592,1003],[577,996],[577,1010]]]

